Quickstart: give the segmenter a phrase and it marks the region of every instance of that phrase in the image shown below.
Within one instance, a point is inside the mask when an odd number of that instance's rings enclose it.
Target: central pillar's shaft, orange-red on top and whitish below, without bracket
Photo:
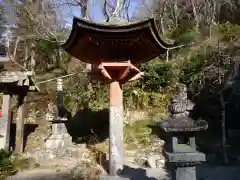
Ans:
[[[118,175],[123,169],[123,93],[121,84],[110,83],[109,108],[109,174]]]

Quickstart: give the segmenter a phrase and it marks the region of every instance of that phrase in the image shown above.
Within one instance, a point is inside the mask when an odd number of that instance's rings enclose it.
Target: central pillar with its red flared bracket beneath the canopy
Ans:
[[[93,65],[92,75],[110,82],[109,89],[109,174],[119,175],[124,163],[122,84],[141,77],[142,72],[130,61],[102,62]],[[94,77],[94,76],[93,76]]]

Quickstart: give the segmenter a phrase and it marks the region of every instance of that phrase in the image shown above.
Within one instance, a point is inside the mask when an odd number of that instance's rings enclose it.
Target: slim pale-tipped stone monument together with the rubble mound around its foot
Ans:
[[[39,164],[48,164],[55,158],[78,157],[78,150],[72,143],[72,137],[66,129],[67,110],[63,105],[63,82],[57,80],[57,107],[50,107],[47,119],[52,122],[51,135],[46,139],[45,148],[28,152],[27,156],[36,158]]]

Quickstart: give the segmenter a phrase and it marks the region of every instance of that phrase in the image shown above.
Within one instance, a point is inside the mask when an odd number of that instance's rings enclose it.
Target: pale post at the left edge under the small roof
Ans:
[[[0,119],[0,149],[9,150],[11,126],[11,95],[3,94],[2,118]]]

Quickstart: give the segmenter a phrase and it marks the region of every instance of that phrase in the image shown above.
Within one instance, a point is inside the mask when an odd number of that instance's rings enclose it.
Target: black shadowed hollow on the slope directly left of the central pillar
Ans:
[[[109,111],[79,110],[66,124],[68,133],[76,143],[96,144],[109,136]]]

